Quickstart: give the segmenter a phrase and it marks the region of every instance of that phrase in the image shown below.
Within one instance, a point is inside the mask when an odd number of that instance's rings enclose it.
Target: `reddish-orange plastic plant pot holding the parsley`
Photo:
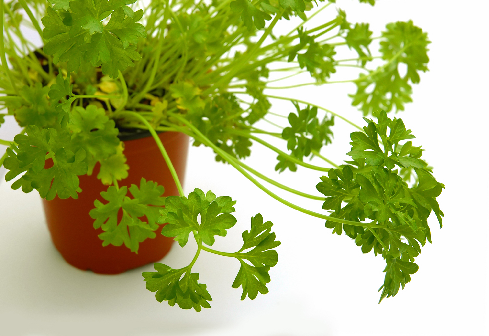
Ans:
[[[159,134],[163,146],[177,171],[180,181],[185,175],[187,161],[188,136],[177,132]],[[139,186],[141,177],[156,181],[165,188],[164,196],[178,195],[177,186],[171,176],[156,142],[151,136],[124,141],[124,154],[129,165],[129,177],[119,186],[135,184]],[[156,238],[146,239],[139,244],[138,253],[131,252],[124,245],[106,247],[98,235],[102,229],[93,229],[93,219],[89,211],[94,208],[93,201],[101,198],[100,192],[107,190],[97,179],[98,167],[93,174],[79,176],[83,192],[78,199],[43,199],[47,227],[56,249],[72,266],[81,270],[91,270],[100,274],[118,274],[127,270],[156,262],[170,251],[173,238],[160,234],[162,226],[156,230]],[[144,220],[144,219],[143,219]]]

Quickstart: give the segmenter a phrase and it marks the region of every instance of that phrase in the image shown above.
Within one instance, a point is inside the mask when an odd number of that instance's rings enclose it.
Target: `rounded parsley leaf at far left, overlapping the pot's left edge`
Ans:
[[[78,198],[77,192],[82,189],[77,175],[87,172],[87,164],[83,162],[85,150],[80,148],[73,153],[67,149],[71,139],[65,130],[40,129],[30,125],[26,127],[26,133],[15,136],[14,141],[19,147],[12,146],[4,162],[4,167],[10,170],[5,175],[6,181],[26,171],[12,184],[12,189],[22,186],[23,191],[29,192],[34,188],[47,200],[56,195],[59,198]],[[50,168],[45,168],[46,154],[53,162]]]

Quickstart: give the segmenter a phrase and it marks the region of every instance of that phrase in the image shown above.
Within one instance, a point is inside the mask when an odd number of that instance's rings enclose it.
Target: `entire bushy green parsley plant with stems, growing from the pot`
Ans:
[[[181,183],[156,131],[179,131],[194,146],[211,147],[217,161],[240,171],[275,200],[307,215],[326,220],[338,235],[345,232],[361,251],[373,251],[386,261],[381,287],[394,296],[411,280],[418,266],[414,258],[431,243],[431,212],[442,225],[436,198],[444,185],[421,159],[423,149],[399,118],[387,112],[403,110],[411,102],[412,84],[428,70],[426,32],[412,21],[393,22],[376,36],[369,23],[352,23],[335,1],[318,5],[308,0],[152,0],[137,9],[135,0],[24,0],[0,6],[0,125],[14,116],[21,134],[0,158],[9,171],[12,188],[37,189],[48,200],[77,198],[78,176],[92,174],[108,186],[94,200],[90,215],[104,231],[101,244],[125,245],[137,253],[139,243],[161,233],[175,237],[181,247],[192,236],[197,252],[189,265],[173,269],[155,264],[143,276],[158,301],[184,309],[209,308],[211,296],[192,273],[201,251],[236,258],[240,262],[233,288],[242,299],[266,294],[269,270],[278,260],[280,245],[271,222],[260,214],[243,232],[243,246],[234,253],[211,249],[215,236],[224,237],[236,218],[231,197],[216,197],[195,189],[184,196]],[[359,1],[374,5],[374,1]],[[47,6],[47,9],[45,9]],[[23,12],[27,15],[22,16]],[[311,18],[322,20],[311,26]],[[290,25],[292,18],[302,21]],[[42,48],[33,47],[21,27],[28,22],[39,33]],[[41,23],[44,29],[41,27]],[[289,33],[279,34],[279,26]],[[376,53],[373,41],[379,41]],[[350,52],[340,59],[338,51]],[[7,57],[9,63],[7,63]],[[379,64],[371,66],[376,60]],[[271,66],[283,62],[282,67]],[[10,65],[9,65],[10,64]],[[400,67],[407,71],[401,75]],[[344,67],[359,69],[357,78],[333,81]],[[269,79],[274,74],[284,77]],[[311,83],[280,86],[275,82],[309,73]],[[274,76],[275,77],[275,76]],[[360,127],[325,107],[268,94],[269,90],[303,85],[351,82],[350,95],[367,126]],[[325,86],[326,87],[326,86]],[[275,99],[290,101],[288,116],[271,112]],[[283,117],[287,122],[269,119]],[[333,141],[334,121],[342,119],[358,131],[351,133],[351,157],[337,164],[321,154]],[[276,131],[257,127],[258,121]],[[278,124],[277,124],[278,123]],[[281,125],[279,125],[281,124]],[[118,128],[150,130],[178,187],[178,196],[162,197],[164,186],[141,179],[140,185],[119,186],[131,172],[126,164]],[[265,139],[283,140],[276,147]],[[297,167],[322,176],[316,186],[323,194],[308,194],[278,183],[244,158],[256,143],[277,156],[275,170]],[[317,165],[306,158],[317,156]],[[20,176],[20,177],[19,177]],[[258,179],[282,190],[323,201],[328,214],[297,206],[273,193]],[[104,201],[105,200],[105,201]],[[318,206],[319,209],[319,206]],[[117,214],[122,212],[118,219]],[[161,216],[160,216],[161,215]]]

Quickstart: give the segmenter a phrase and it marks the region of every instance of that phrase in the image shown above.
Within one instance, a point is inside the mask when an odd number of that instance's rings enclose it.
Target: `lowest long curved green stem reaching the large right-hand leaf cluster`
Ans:
[[[205,145],[207,145],[208,147],[211,147],[212,149],[214,149],[216,151],[216,153],[218,153],[219,155],[221,155],[222,158],[224,158],[227,162],[229,162],[229,164],[231,166],[233,166],[240,173],[242,173],[255,186],[257,186],[258,188],[262,189],[267,195],[271,196],[272,198],[274,198],[275,200],[279,201],[280,203],[285,204],[289,208],[292,208],[294,210],[298,210],[300,212],[306,213],[306,214],[311,215],[313,217],[317,217],[317,218],[321,218],[321,219],[327,219],[327,220],[332,221],[334,223],[343,223],[343,224],[349,224],[349,225],[353,225],[353,226],[367,227],[367,228],[371,226],[371,223],[360,223],[360,222],[354,222],[354,221],[350,221],[350,220],[346,220],[346,219],[335,218],[335,217],[323,215],[322,213],[317,213],[317,212],[314,212],[314,211],[311,211],[311,210],[307,210],[307,209],[301,208],[301,207],[299,207],[299,206],[297,206],[297,205],[295,205],[293,203],[290,203],[289,201],[286,201],[282,197],[274,194],[273,192],[271,192],[270,190],[268,190],[267,188],[265,188],[260,182],[258,182],[255,178],[253,178],[250,174],[248,174],[248,172],[246,172],[246,170],[244,170],[244,168],[242,168],[239,164],[237,164],[235,162],[235,160],[236,160],[235,158],[233,158],[232,156],[230,156],[229,154],[227,154],[221,148],[219,148],[216,145],[214,145],[209,139],[207,139],[207,137],[205,137],[199,131],[199,129],[197,127],[193,126],[188,120],[186,120],[182,116],[180,116],[178,114],[175,114],[175,113],[168,113],[168,114],[171,115],[172,117],[174,117],[175,119],[178,119],[180,122],[184,123],[186,126],[188,126],[195,134],[197,134],[198,137],[201,138],[201,140],[203,140],[203,143]],[[382,227],[381,229],[387,229],[387,228],[383,228]]]

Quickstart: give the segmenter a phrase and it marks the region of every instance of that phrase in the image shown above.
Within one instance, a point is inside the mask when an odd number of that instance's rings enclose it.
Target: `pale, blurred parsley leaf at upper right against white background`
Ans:
[[[412,101],[409,82],[419,83],[418,71],[428,70],[427,34],[412,21],[389,23],[386,28],[379,51],[387,63],[367,75],[361,74],[355,81],[356,93],[349,95],[352,105],[358,105],[364,115],[380,110],[389,112],[394,107],[396,111],[404,110],[404,104]],[[407,66],[403,77],[399,73],[400,63]]]

